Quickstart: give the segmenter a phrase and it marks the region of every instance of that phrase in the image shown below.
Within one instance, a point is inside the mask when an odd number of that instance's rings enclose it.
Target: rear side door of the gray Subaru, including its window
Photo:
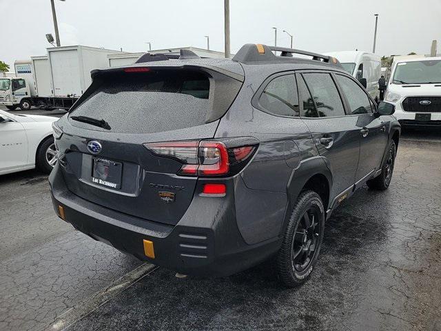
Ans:
[[[347,117],[340,92],[329,72],[297,74],[300,116],[333,176],[331,199],[351,194],[360,154],[360,129]]]

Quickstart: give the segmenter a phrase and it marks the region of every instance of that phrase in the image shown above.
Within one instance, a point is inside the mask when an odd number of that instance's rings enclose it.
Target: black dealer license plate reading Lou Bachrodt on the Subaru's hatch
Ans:
[[[121,188],[123,163],[106,159],[92,159],[92,181],[108,188]]]

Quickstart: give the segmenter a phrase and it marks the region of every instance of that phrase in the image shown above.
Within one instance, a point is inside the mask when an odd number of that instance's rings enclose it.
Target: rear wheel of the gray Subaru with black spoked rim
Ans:
[[[316,265],[324,230],[322,199],[314,191],[301,192],[276,256],[278,279],[283,285],[294,288],[307,281]]]

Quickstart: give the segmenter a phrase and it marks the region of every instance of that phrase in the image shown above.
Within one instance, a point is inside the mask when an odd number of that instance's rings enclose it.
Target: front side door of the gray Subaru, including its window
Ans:
[[[375,170],[381,168],[382,157],[387,146],[388,130],[381,117],[373,112],[375,106],[364,89],[351,77],[336,74],[347,106],[348,117],[356,119],[356,127],[360,132],[360,162],[358,163],[356,182],[363,183]]]

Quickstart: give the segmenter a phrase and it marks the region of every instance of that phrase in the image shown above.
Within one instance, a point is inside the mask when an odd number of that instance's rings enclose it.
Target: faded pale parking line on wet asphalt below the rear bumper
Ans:
[[[116,279],[116,281],[107,288],[96,292],[88,299],[85,299],[69,310],[66,310],[63,314],[59,315],[55,321],[52,321],[47,327],[41,330],[58,331],[68,328],[70,325],[83,319],[83,317],[96,310],[96,308],[99,308],[99,306],[103,305],[126,288],[129,288],[137,281],[143,279],[147,274],[154,272],[156,269],[158,269],[156,265],[143,263],[138,268],[135,268],[119,279]]]

